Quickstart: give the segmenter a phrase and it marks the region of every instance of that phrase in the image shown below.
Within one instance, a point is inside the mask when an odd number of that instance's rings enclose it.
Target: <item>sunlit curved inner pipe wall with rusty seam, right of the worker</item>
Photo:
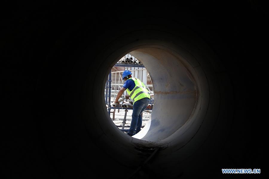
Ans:
[[[129,54],[139,59],[146,67],[154,91],[151,118],[143,130],[132,137],[154,142],[170,136],[166,141],[170,143],[186,132],[190,126],[188,124],[195,120],[194,113],[199,96],[195,70],[181,54],[166,46],[135,47]],[[117,61],[119,59],[116,59]],[[103,81],[103,86],[105,85],[106,81]],[[181,129],[184,124],[184,129]],[[177,131],[178,133],[171,137]]]

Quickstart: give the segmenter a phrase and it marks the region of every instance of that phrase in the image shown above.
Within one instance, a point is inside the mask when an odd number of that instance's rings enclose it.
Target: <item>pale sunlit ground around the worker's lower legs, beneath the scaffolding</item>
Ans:
[[[110,117],[111,120],[113,119],[113,111],[114,109],[111,109]],[[128,109],[127,115],[126,115],[126,124],[125,126],[130,126],[132,121],[132,109]],[[120,109],[120,112],[118,112],[118,109],[115,110],[115,120],[113,121],[116,126],[119,129],[122,129],[122,122],[125,114],[125,109]],[[151,116],[151,110],[144,110],[142,115],[142,127],[145,126],[145,124],[149,121],[149,118]],[[124,127],[124,129],[129,129],[129,127]],[[143,128],[141,128],[143,130]]]

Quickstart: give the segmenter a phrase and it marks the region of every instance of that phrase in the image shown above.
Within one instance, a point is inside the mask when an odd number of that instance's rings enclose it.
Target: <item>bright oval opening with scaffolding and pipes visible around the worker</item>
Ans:
[[[126,54],[112,67],[106,81],[105,102],[111,120],[122,132],[127,134],[131,127],[131,122],[133,123],[134,100],[132,98],[127,99],[126,95],[128,95],[127,90],[132,91],[135,88],[135,83],[123,80],[122,75],[125,70],[131,73],[133,79],[136,78],[140,80],[141,84],[145,87],[143,90],[148,93],[148,98],[150,98],[149,104],[141,111],[141,118],[137,119],[137,126],[141,125],[138,129],[143,130],[151,117],[154,105],[154,91],[147,69],[144,67],[143,63],[134,56]],[[124,91],[122,93],[121,90],[123,89]],[[122,95],[118,96],[118,94],[120,95],[121,93]],[[117,97],[120,103],[116,105],[115,100]],[[134,130],[135,135],[139,133],[137,126]]]

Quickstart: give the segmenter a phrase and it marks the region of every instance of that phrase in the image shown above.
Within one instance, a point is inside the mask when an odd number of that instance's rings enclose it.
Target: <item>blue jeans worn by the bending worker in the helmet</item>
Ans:
[[[142,113],[144,109],[149,105],[149,98],[142,98],[138,101],[135,101],[133,105],[133,114],[132,114],[132,121],[129,129],[129,135],[134,134],[134,130],[136,128],[136,134],[141,130],[142,125]]]

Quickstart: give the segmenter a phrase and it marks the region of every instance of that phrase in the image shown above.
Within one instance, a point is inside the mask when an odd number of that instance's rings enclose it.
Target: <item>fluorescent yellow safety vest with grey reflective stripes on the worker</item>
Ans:
[[[134,101],[134,104],[135,104],[135,101],[138,101],[142,98],[150,99],[149,91],[147,90],[147,87],[145,86],[145,84],[142,81],[140,81],[140,79],[129,78],[128,80],[135,81],[135,87],[132,91],[129,91],[129,89],[127,88],[127,93],[130,96],[130,98],[132,98],[132,100]]]

